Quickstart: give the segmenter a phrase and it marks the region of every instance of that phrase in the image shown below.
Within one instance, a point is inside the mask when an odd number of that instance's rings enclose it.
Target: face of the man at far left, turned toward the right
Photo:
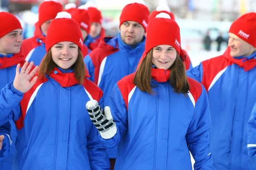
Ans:
[[[17,54],[22,45],[22,29],[16,29],[0,38],[0,54]]]

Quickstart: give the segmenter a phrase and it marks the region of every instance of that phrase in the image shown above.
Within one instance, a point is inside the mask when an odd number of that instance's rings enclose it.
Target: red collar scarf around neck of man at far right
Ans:
[[[239,67],[244,68],[244,71],[249,71],[256,66],[256,59],[234,59],[234,57],[230,56],[230,51],[230,47],[227,47],[227,50],[224,52],[223,57],[227,58],[232,63],[237,64]]]

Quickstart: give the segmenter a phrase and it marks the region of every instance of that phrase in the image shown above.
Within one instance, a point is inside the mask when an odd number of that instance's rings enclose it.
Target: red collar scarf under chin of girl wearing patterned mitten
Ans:
[[[158,82],[166,82],[170,78],[171,70],[164,70],[158,68],[151,69],[151,77]]]

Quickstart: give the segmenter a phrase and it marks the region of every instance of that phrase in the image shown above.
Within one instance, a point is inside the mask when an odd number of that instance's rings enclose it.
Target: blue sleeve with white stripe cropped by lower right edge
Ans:
[[[254,168],[256,168],[256,104],[252,110],[251,117],[248,122],[248,139],[247,150],[248,158],[251,161]]]

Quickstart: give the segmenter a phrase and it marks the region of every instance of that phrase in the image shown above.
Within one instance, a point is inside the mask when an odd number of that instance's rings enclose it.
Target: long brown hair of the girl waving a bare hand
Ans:
[[[50,74],[51,71],[53,71],[54,67],[57,67],[57,65],[53,62],[53,58],[51,55],[51,49],[45,54],[43,57],[43,60],[39,66],[39,74],[38,77],[40,80],[45,78],[45,74]],[[72,69],[74,69],[75,73],[75,79],[79,82],[81,85],[85,80],[85,62],[83,60],[83,55],[78,48],[78,57],[75,64],[73,64]]]

